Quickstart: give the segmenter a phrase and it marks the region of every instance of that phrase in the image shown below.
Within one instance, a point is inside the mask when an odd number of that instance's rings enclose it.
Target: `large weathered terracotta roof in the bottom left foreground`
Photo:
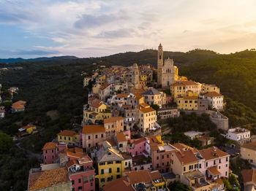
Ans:
[[[30,174],[28,190],[40,190],[65,182],[69,182],[66,167],[40,171],[35,174]]]

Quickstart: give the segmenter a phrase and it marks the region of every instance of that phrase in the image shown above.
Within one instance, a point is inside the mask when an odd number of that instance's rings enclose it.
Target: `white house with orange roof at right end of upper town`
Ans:
[[[217,92],[210,92],[206,93],[205,98],[212,109],[223,110],[223,95]]]

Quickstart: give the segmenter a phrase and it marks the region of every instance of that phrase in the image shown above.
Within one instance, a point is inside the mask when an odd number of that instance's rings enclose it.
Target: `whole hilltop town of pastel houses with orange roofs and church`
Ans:
[[[42,164],[29,171],[28,190],[169,190],[174,182],[191,190],[225,190],[228,178],[236,176],[230,171],[232,154],[214,146],[207,131],[184,132],[189,140],[200,141],[200,148],[162,138],[162,121],[181,112],[208,114],[231,147],[241,147],[244,159],[256,161],[252,155],[246,158],[255,150],[250,131],[229,128],[221,113],[225,102],[219,87],[179,76],[174,61],[164,60],[162,44],[157,69],[137,63],[100,66],[84,77],[81,88],[89,90],[82,128],[62,130],[45,143]],[[25,106],[26,101],[18,101],[12,112],[23,112]],[[37,127],[19,131],[37,133]],[[244,182],[250,183],[251,173],[242,172]]]

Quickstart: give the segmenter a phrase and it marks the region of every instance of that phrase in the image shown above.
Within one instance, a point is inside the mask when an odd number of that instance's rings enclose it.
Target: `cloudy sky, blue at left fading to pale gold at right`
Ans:
[[[256,47],[255,0],[0,0],[0,58]]]

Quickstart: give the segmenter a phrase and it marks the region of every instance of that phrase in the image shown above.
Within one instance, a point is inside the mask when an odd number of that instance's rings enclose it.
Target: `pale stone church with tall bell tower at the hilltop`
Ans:
[[[176,80],[178,80],[178,68],[173,65],[173,59],[167,58],[164,61],[164,51],[160,43],[157,55],[157,85],[169,88]]]

